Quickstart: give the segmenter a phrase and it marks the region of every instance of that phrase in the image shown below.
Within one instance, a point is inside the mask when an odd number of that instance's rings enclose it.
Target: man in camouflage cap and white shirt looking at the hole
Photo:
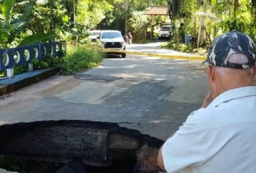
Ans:
[[[256,172],[255,45],[241,32],[217,37],[208,50],[211,87],[158,153],[168,173]]]

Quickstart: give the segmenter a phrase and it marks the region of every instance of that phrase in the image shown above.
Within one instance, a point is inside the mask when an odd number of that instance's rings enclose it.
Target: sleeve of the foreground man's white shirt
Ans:
[[[176,134],[162,148],[165,169],[168,173],[205,162],[203,134],[196,127],[196,113],[192,112]]]

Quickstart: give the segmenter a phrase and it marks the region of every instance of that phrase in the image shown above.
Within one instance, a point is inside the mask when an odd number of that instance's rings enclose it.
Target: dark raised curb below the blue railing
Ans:
[[[0,80],[0,96],[19,90],[40,80],[55,75],[59,68],[41,69],[32,72],[26,72],[14,76],[14,78],[4,78]]]

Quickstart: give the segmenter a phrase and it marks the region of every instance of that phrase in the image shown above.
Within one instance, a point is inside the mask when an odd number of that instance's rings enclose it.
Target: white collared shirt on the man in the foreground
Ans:
[[[255,173],[256,87],[226,91],[192,112],[162,154],[168,173]]]

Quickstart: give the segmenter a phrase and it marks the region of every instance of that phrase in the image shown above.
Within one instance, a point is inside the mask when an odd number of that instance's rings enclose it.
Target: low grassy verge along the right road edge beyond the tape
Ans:
[[[204,48],[193,49],[193,45],[185,45],[184,43],[177,44],[174,40],[171,40],[169,43],[164,43],[161,45],[162,48],[171,49],[178,52],[192,53],[200,56],[204,56],[207,53],[207,50]]]

